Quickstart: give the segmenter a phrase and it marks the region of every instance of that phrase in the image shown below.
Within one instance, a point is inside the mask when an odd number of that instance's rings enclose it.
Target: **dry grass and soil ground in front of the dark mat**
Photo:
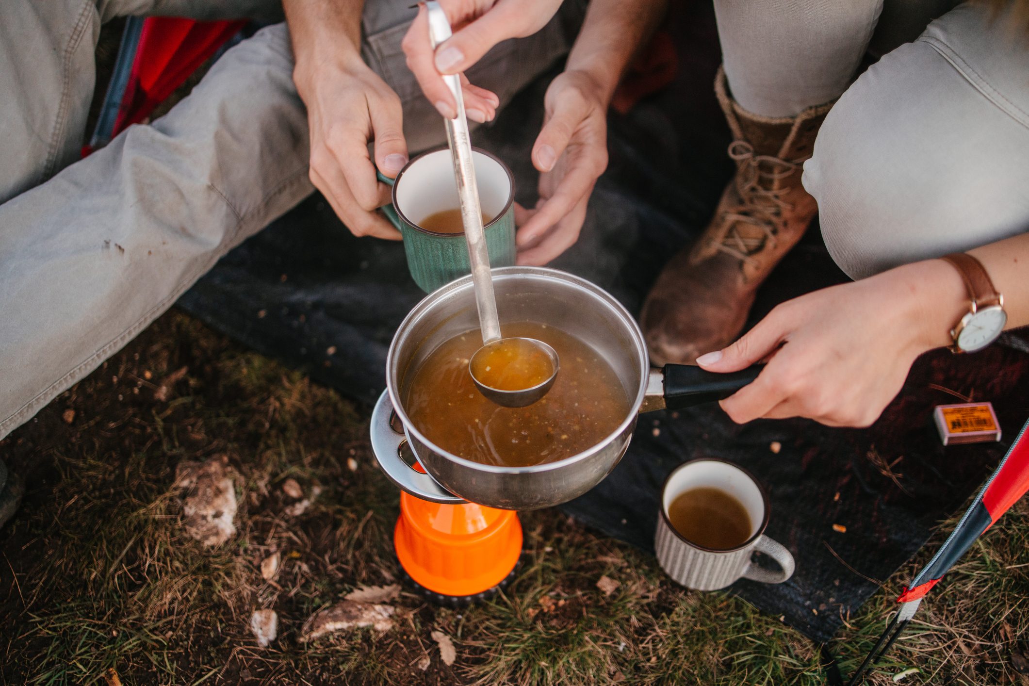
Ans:
[[[314,611],[398,575],[397,491],[375,466],[367,420],[196,320],[163,317],[0,442],[29,486],[0,532],[0,678],[104,684],[114,667],[126,684],[825,683],[818,647],[777,617],[686,592],[652,557],[553,510],[523,515],[524,566],[493,601],[455,611],[404,592],[389,633],[298,643]],[[240,507],[237,535],[212,549],[184,535],[172,484],[179,462],[217,455],[239,475]],[[290,477],[322,489],[298,517],[284,512]],[[977,544],[868,683],[915,667],[901,684],[1029,684],[1016,670],[1029,654],[1027,517],[1020,503]],[[258,570],[272,550],[283,554],[275,583]],[[841,630],[832,649],[844,674],[913,570]],[[610,595],[596,586],[604,575],[620,584]],[[268,649],[247,627],[257,608],[279,613]],[[453,638],[453,665],[433,630]]]

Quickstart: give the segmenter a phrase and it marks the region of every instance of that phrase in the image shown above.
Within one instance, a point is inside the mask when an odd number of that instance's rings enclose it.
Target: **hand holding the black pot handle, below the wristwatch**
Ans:
[[[784,302],[697,363],[728,372],[768,361],[753,383],[721,401],[734,422],[806,417],[866,427],[900,391],[915,358],[948,345],[967,311],[953,266],[916,262]]]

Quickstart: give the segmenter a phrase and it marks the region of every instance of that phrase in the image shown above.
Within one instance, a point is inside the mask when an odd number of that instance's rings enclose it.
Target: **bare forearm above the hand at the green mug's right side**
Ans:
[[[667,0],[593,0],[565,69],[586,72],[610,102],[630,61],[650,37]]]

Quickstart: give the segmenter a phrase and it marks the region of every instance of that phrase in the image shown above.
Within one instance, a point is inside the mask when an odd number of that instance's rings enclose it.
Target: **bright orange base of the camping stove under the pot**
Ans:
[[[514,576],[522,525],[511,510],[431,503],[401,492],[393,546],[430,600],[459,606],[489,598]]]

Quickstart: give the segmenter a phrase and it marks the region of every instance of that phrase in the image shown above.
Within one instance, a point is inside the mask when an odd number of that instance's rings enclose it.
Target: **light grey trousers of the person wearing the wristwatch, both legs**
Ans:
[[[803,182],[852,278],[1029,230],[1029,36],[954,4],[715,1],[744,109],[840,98]],[[882,58],[851,83],[870,48]]]

